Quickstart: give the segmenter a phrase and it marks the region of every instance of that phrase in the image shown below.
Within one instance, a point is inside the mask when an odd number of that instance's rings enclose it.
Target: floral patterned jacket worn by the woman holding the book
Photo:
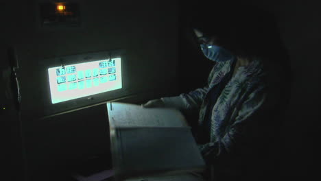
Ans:
[[[263,64],[253,60],[247,66],[237,68],[235,75],[228,81],[215,105],[209,105],[211,89],[217,87],[224,75],[230,71],[232,61],[219,62],[213,67],[208,84],[190,93],[177,97],[161,98],[165,106],[171,105],[180,110],[199,110],[198,125],[208,123],[210,126],[210,142],[199,145],[202,154],[211,153],[211,157],[233,152],[235,143],[244,136],[244,125],[265,101],[265,81]],[[212,108],[211,118],[206,120],[207,108]],[[242,141],[240,141],[242,142]]]

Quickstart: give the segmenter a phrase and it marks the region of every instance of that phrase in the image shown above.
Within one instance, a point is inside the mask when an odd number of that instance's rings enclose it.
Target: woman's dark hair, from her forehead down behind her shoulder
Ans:
[[[259,58],[263,64],[269,65],[265,66],[265,70],[269,75],[277,76],[270,80],[277,80],[277,86],[288,104],[292,82],[291,64],[272,12],[243,1],[200,0],[185,3],[180,14],[181,30],[198,50],[200,46],[195,40],[193,29],[200,30],[204,36],[215,37],[217,45],[228,49],[235,56],[250,61]]]

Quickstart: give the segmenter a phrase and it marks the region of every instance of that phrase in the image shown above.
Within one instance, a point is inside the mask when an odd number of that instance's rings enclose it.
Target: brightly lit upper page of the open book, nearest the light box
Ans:
[[[184,127],[185,117],[170,108],[143,108],[136,104],[108,102],[108,118],[112,127]],[[115,121],[117,120],[117,121]]]

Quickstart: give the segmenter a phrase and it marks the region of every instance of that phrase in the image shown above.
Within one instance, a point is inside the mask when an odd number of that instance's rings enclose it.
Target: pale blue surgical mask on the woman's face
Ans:
[[[234,58],[233,54],[230,53],[230,51],[217,45],[201,44],[200,46],[202,48],[204,56],[206,56],[206,58],[209,58],[209,60],[213,60],[215,62],[226,62]]]

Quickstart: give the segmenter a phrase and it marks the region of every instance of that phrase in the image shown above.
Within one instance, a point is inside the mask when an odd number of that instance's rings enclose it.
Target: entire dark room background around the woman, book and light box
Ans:
[[[42,62],[46,58],[126,49],[124,78],[132,97],[119,101],[134,104],[204,86],[211,71],[213,64],[206,62],[199,51],[194,51],[182,33],[180,19],[187,13],[185,1],[78,1],[82,26],[62,29],[46,29],[38,25],[39,2],[0,3],[0,68],[3,72],[8,70],[8,48],[16,47],[23,96],[21,128],[29,180],[61,178],[64,171],[94,156],[102,156],[110,164],[104,102],[52,117],[43,114],[48,103],[47,99],[42,99],[47,94],[43,75],[46,62]],[[275,149],[281,156],[281,175],[308,176],[313,170],[316,154],[313,136],[318,130],[313,123],[320,116],[316,104],[320,102],[320,6],[313,1],[243,2],[276,16],[281,39],[289,54],[292,88],[289,106],[281,118],[280,140],[283,144]],[[202,5],[209,5],[209,1],[198,1],[195,8],[202,8]],[[1,72],[3,95],[5,76]],[[1,114],[4,133],[1,159],[13,158],[11,166],[9,161],[6,165],[8,169],[14,167],[14,176],[19,178],[22,174],[18,169],[19,162],[23,160],[20,158],[19,121],[14,110],[6,115],[2,117]]]

